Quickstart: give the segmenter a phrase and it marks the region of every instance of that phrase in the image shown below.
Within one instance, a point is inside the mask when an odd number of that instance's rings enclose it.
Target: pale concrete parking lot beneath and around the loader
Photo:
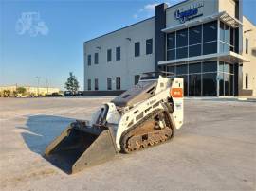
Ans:
[[[256,103],[185,100],[174,140],[67,175],[42,154],[112,97],[0,98],[1,190],[255,190]]]

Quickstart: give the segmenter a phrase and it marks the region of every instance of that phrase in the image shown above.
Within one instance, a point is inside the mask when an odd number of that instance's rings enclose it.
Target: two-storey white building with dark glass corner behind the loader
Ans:
[[[118,95],[139,74],[174,72],[185,96],[256,96],[256,27],[239,0],[160,4],[155,17],[83,43],[85,95]]]

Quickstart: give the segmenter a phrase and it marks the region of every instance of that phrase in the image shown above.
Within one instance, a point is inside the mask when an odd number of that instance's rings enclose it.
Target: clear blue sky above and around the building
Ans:
[[[40,86],[64,90],[73,72],[82,90],[83,42],[154,16],[159,3],[163,1],[0,0],[0,86],[37,86],[39,77]],[[243,8],[256,24],[256,0],[244,0]]]

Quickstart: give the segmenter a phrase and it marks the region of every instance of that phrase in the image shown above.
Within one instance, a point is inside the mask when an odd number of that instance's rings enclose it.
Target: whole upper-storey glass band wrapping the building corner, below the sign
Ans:
[[[183,59],[219,52],[234,51],[235,29],[218,21],[192,26],[167,34],[166,60]]]

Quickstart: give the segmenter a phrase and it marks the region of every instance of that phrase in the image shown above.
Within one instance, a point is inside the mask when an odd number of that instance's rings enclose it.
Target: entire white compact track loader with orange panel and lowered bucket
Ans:
[[[171,140],[183,124],[183,78],[145,73],[137,85],[104,104],[90,121],[77,120],[46,148],[67,173]]]

